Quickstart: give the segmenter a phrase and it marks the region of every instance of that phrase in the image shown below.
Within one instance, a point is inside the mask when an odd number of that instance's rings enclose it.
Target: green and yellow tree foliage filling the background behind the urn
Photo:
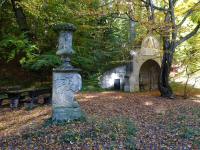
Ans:
[[[140,0],[15,1],[26,15],[32,41],[27,40],[20,31],[11,1],[1,0],[0,59],[9,62],[17,58],[23,67],[30,70],[50,70],[60,64],[55,55],[58,35],[52,29],[57,23],[69,22],[77,27],[73,40],[76,53],[72,63],[82,69],[82,75],[86,78],[126,63],[130,60],[130,50],[141,43],[147,31],[162,34],[161,31],[166,27],[163,23],[164,13],[155,10],[156,20],[149,21],[149,12]],[[161,0],[153,2],[159,7],[168,5]],[[196,2],[197,0],[177,1],[177,24]],[[196,5],[194,10],[198,9],[199,5]],[[180,37],[190,31],[194,23],[199,22],[199,16],[197,11],[188,18],[190,26],[186,23],[179,29]],[[130,40],[130,20],[137,22],[134,40]]]

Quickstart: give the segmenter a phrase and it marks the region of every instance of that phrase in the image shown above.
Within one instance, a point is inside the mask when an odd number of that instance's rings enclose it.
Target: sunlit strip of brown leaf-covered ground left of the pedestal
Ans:
[[[0,136],[12,133],[20,134],[20,132],[27,128],[41,125],[45,119],[51,116],[50,111],[49,107],[38,107],[31,111],[21,109],[9,111],[7,115],[1,114]]]

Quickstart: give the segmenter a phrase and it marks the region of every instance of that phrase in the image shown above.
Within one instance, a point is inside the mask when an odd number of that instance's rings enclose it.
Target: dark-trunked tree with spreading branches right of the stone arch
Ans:
[[[159,90],[163,97],[173,98],[173,91],[169,85],[169,74],[172,67],[172,60],[175,49],[177,46],[182,44],[184,41],[190,39],[194,36],[200,27],[200,20],[197,21],[196,27],[189,32],[187,35],[180,37],[180,29],[183,24],[186,22],[187,18],[189,18],[193,13],[195,13],[199,9],[200,1],[187,10],[184,17],[182,18],[179,23],[177,23],[178,17],[175,16],[175,6],[178,0],[168,0],[165,2],[165,7],[156,6],[152,0],[142,0],[145,5],[148,5],[151,10],[151,17],[155,16],[155,11],[161,11],[164,13],[164,24],[165,26],[160,29],[159,32],[162,32],[163,37],[163,58],[162,58],[162,65],[161,65],[161,74],[160,74],[160,83],[159,83]]]

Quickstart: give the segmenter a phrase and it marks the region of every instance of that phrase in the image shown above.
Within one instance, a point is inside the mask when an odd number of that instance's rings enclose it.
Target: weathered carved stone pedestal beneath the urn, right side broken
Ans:
[[[75,93],[82,87],[81,76],[69,70],[53,71],[53,120],[70,121],[82,116]]]

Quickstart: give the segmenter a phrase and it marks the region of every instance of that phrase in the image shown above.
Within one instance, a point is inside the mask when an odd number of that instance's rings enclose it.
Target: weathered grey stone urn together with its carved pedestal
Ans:
[[[70,23],[54,26],[59,33],[58,51],[62,65],[53,69],[52,119],[54,121],[71,121],[82,116],[82,111],[75,99],[75,93],[82,87],[82,79],[78,73],[80,69],[70,64],[74,53],[72,49],[72,34],[76,27]]]

